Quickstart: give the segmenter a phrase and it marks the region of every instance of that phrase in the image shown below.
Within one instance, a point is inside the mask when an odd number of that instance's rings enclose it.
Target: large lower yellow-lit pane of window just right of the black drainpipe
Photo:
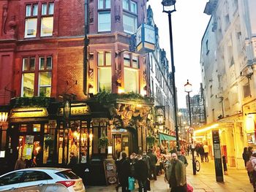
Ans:
[[[98,85],[99,92],[106,91],[111,92],[111,68],[102,67],[98,69]]]

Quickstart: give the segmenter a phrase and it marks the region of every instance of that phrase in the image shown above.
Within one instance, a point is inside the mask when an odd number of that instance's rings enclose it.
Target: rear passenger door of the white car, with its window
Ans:
[[[47,185],[50,177],[45,172],[29,170],[23,175],[23,183],[18,186],[18,192],[42,192],[45,190],[45,185]]]

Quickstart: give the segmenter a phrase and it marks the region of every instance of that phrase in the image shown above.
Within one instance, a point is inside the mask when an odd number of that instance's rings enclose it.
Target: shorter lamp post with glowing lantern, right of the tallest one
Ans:
[[[187,96],[188,96],[188,101],[189,101],[189,129],[188,131],[191,134],[191,152],[192,152],[192,167],[193,167],[193,174],[197,174],[196,169],[195,169],[195,155],[194,155],[194,146],[193,146],[193,135],[192,135],[192,120],[191,120],[191,109],[190,109],[190,96],[189,93],[192,92],[192,84],[189,83],[189,80],[187,80],[187,83],[184,85],[185,88],[185,92],[187,92]]]

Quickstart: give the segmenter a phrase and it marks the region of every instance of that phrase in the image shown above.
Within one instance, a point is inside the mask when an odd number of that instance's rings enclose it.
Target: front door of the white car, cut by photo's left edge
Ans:
[[[22,180],[24,172],[11,172],[0,177],[0,191],[17,192],[18,186]]]

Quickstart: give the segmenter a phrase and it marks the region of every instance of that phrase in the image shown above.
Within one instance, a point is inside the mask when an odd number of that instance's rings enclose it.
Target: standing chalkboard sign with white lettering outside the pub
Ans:
[[[115,184],[117,182],[115,161],[113,159],[105,159],[103,164],[107,185]]]

